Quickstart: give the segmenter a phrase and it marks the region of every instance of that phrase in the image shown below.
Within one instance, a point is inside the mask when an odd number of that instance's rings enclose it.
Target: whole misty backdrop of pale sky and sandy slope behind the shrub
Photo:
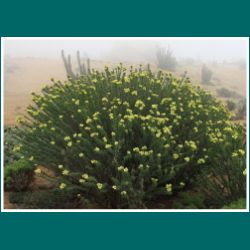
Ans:
[[[150,64],[156,72],[187,77],[220,98],[244,119],[248,41],[241,38],[5,38],[4,124],[13,125],[25,114],[31,92],[39,92],[50,79],[67,80],[68,56],[72,72],[79,74],[77,51],[83,64],[103,70],[104,65],[126,67]],[[62,57],[64,50],[64,58]]]

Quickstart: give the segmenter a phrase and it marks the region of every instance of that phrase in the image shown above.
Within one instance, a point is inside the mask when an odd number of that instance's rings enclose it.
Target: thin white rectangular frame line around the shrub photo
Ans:
[[[245,209],[4,209],[4,43],[8,40],[240,40],[246,46],[247,194]],[[1,37],[1,212],[249,212],[249,37]]]

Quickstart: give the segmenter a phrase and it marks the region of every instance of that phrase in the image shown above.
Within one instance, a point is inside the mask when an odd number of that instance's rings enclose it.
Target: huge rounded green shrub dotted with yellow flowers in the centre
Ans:
[[[105,208],[142,208],[194,184],[230,123],[200,87],[122,66],[54,82],[33,101],[20,154]]]

